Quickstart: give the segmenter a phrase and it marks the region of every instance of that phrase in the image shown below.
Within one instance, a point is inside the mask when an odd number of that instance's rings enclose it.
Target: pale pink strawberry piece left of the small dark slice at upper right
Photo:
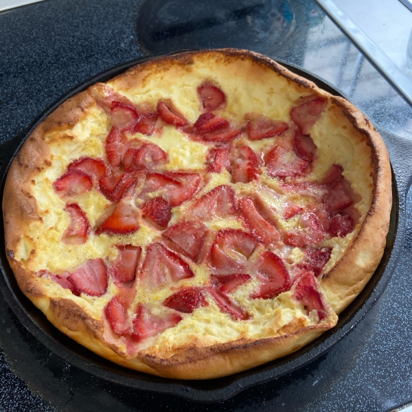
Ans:
[[[280,146],[275,146],[266,153],[264,161],[267,165],[268,175],[271,177],[304,176],[308,173],[308,163],[299,159],[295,152],[284,150]]]

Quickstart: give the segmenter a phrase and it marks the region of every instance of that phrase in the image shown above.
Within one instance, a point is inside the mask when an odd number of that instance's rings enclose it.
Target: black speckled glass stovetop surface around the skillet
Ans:
[[[173,13],[179,5],[188,10],[184,18],[190,19],[189,12],[198,15],[204,3],[153,0],[139,10],[141,3],[45,0],[0,12],[0,143],[23,133],[61,95],[119,63],[155,52],[224,46],[253,49],[304,67],[341,89],[374,124],[412,139],[411,106],[314,2],[273,0],[262,5],[242,0],[231,5],[228,0],[225,7],[241,3],[255,14],[240,16],[226,10],[227,21],[216,23],[213,16],[206,16],[177,36],[172,32],[162,37],[158,31],[152,38],[148,36],[152,22],[145,16],[158,19],[160,27],[176,19]],[[219,2],[207,4],[217,8]],[[259,23],[256,10],[268,16],[270,25]],[[233,16],[249,24],[249,43],[233,35]],[[282,41],[276,36],[279,32]],[[0,411],[369,412],[408,404],[412,402],[412,196],[407,209],[407,239],[400,262],[385,293],[354,330],[307,367],[218,404],[126,389],[73,367],[36,341],[0,295]]]

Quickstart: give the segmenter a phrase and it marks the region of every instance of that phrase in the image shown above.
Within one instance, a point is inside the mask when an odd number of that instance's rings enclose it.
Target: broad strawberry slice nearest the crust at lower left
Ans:
[[[67,277],[78,293],[102,296],[107,290],[107,268],[102,259],[88,260]]]

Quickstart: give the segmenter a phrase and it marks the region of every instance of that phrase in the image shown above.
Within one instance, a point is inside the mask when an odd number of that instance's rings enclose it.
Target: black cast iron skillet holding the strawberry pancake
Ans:
[[[3,144],[0,147],[1,194],[3,194],[5,176],[14,156],[16,156],[16,153],[25,139],[27,139],[34,128],[36,128],[36,126],[42,122],[49,113],[52,113],[57,106],[72,95],[87,89],[91,84],[94,84],[95,82],[105,82],[124,72],[129,67],[146,60],[150,60],[150,58],[141,58],[119,65],[113,69],[104,71],[104,73],[100,73],[98,76],[95,76],[75,89],[72,89],[43,112],[28,130],[25,130],[21,135]],[[290,69],[290,71],[312,80],[321,87],[321,89],[328,91],[333,95],[342,95],[340,91],[334,89],[330,84],[320,80],[311,73],[308,73],[295,65],[290,65],[283,61],[280,62]],[[387,144],[393,168],[393,207],[391,211],[389,233],[387,236],[387,246],[382,261],[364,290],[358,297],[356,297],[352,304],[341,313],[337,325],[332,330],[325,332],[319,339],[294,354],[239,374],[213,380],[172,380],[158,378],[157,376],[143,374],[106,361],[104,358],[87,350],[85,347],[72,341],[65,334],[62,334],[62,332],[54,328],[52,323],[47,321],[43,312],[38,310],[34,304],[23,295],[5,256],[2,217],[0,218],[0,268],[3,276],[0,276],[0,289],[3,292],[5,300],[8,302],[21,323],[25,325],[27,330],[36,336],[38,341],[41,341],[41,343],[48,347],[49,350],[58,354],[58,356],[65,359],[68,363],[71,363],[90,374],[126,387],[168,393],[188,400],[195,400],[197,402],[218,402],[231,398],[231,396],[236,395],[236,393],[253,385],[258,385],[295,371],[311,361],[314,361],[314,359],[325,354],[325,352],[328,352],[336,342],[345,336],[345,334],[347,334],[347,332],[349,332],[354,325],[362,319],[365,313],[380,297],[383,290],[385,290],[396,266],[404,239],[405,200],[412,179],[412,141],[402,139],[380,128],[378,128],[378,132],[382,135]]]

